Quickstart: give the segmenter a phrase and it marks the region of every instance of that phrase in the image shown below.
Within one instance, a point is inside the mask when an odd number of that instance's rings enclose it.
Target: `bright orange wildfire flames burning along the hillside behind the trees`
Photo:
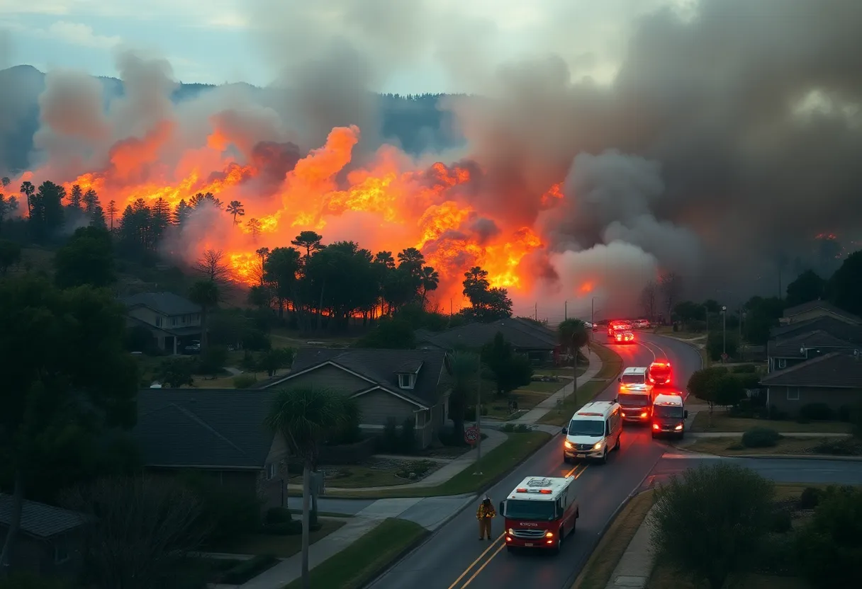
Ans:
[[[397,148],[383,146],[371,164],[345,174],[359,142],[359,128],[336,127],[323,146],[299,158],[274,188],[265,189],[256,182],[270,162],[265,158],[240,162],[229,156],[237,141],[218,127],[217,120],[211,122],[215,128],[205,144],[185,152],[176,164],[160,158],[175,133],[172,124],[163,123],[141,139],[118,141],[102,170],[81,174],[63,185],[67,193],[74,184],[84,191],[95,190],[103,208],[115,202],[117,216],[138,199],[150,206],[162,199],[176,208],[197,193],[209,192],[224,204],[242,202],[245,214],[236,225],[230,221],[227,234],[213,227],[193,245],[195,251],[185,254],[199,256],[209,247],[222,249],[234,279],[247,284],[259,279],[260,259],[255,253],[259,247],[290,245],[297,233],[313,229],[324,235],[325,242],[353,239],[372,251],[419,249],[440,274],[440,295],[457,292],[460,299],[463,273],[474,265],[488,271],[493,287],[528,287],[529,274],[520,266],[529,252],[543,247],[542,240],[527,226],[503,226],[490,236],[472,230],[480,215],[470,206],[464,188],[474,173],[481,173],[478,169],[439,162],[417,168]],[[41,177],[39,171],[25,176]],[[51,179],[47,172],[45,176],[41,180]],[[549,208],[562,198],[560,185],[555,184],[541,202]],[[353,223],[359,217],[350,216],[358,213],[365,214],[364,232]],[[223,216],[231,219],[229,214]],[[372,229],[367,226],[369,218],[376,223]],[[256,221],[250,223],[252,219]],[[327,233],[333,223],[336,227]],[[359,233],[351,233],[353,226]],[[591,289],[590,283],[581,291]]]

